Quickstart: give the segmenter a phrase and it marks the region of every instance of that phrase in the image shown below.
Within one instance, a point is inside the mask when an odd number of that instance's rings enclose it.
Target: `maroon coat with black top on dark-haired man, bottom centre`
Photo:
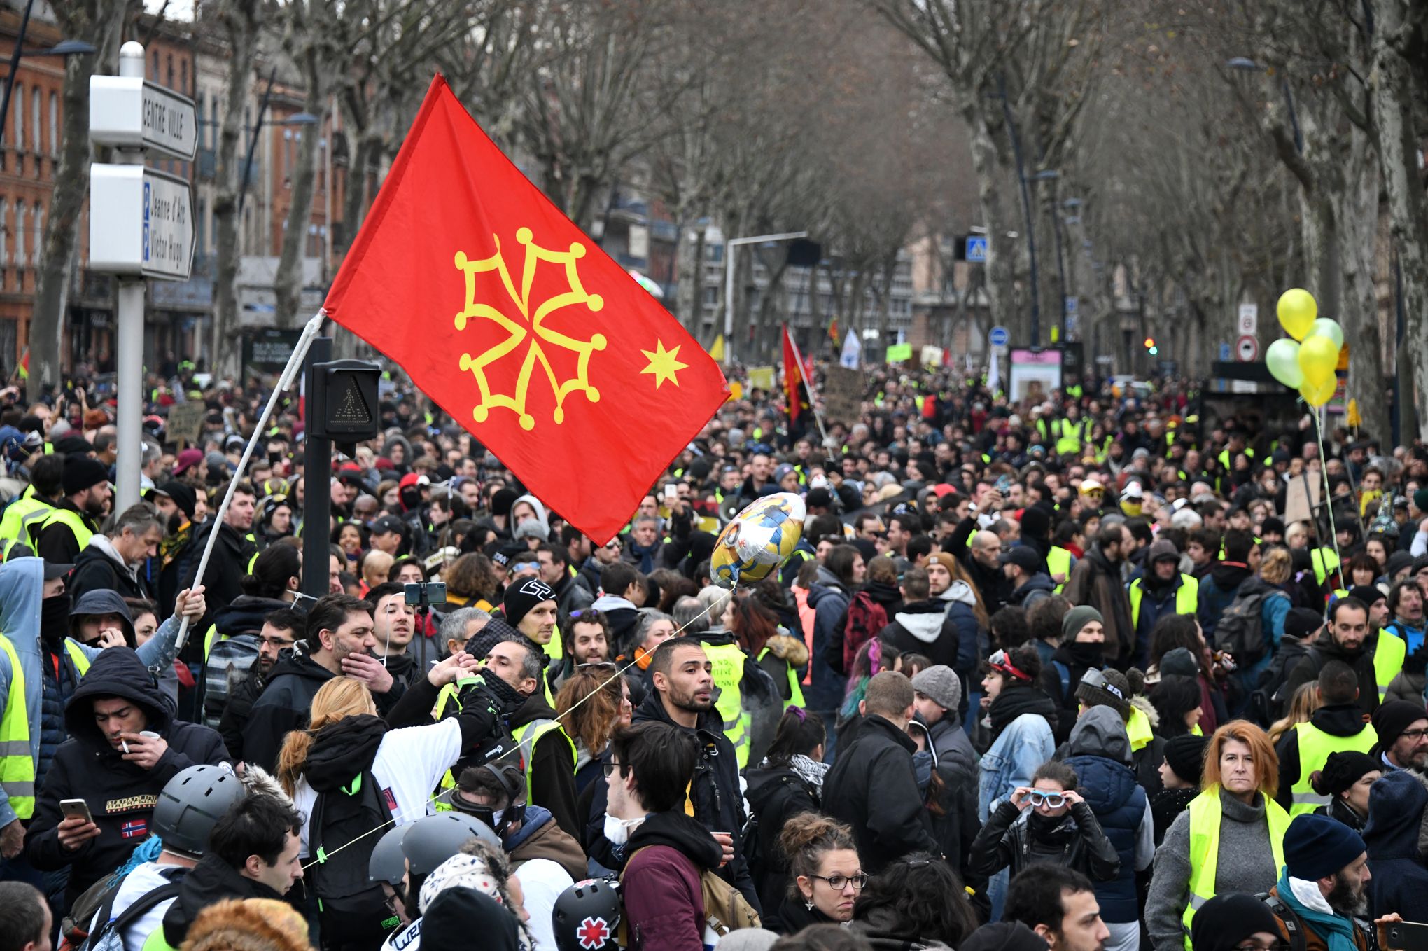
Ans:
[[[723,858],[710,830],[678,810],[655,812],[635,827],[625,850],[620,894],[631,950],[704,951],[700,875]]]

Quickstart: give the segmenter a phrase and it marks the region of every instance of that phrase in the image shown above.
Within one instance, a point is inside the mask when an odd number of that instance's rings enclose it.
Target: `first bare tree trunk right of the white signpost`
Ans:
[[[251,87],[253,60],[257,56],[261,10],[258,0],[230,0],[218,14],[231,51],[223,123],[218,126],[217,194],[213,198],[213,236],[218,248],[213,278],[213,373],[218,378],[237,377],[241,360],[241,347],[237,346],[241,330],[237,283],[243,254],[238,193],[248,156],[248,130],[243,116]],[[250,181],[248,187],[251,186]]]

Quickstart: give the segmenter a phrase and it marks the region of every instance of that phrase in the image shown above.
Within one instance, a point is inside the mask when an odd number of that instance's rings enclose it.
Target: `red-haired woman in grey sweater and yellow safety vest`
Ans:
[[[1289,815],[1274,801],[1279,758],[1264,730],[1231,720],[1210,738],[1201,794],[1155,852],[1145,927],[1155,951],[1190,950],[1195,912],[1217,894],[1269,891]]]

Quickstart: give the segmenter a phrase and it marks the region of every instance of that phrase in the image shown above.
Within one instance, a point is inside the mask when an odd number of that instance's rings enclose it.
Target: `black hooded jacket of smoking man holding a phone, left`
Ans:
[[[123,758],[94,724],[96,697],[123,697],[144,711],[146,730],[169,743],[169,750],[146,770]],[[231,763],[223,740],[207,727],[173,720],[159,685],[139,655],[127,647],[111,647],[94,658],[89,673],[64,708],[70,738],[54,753],[36,802],[34,820],[26,834],[24,851],[41,871],[70,867],[69,895],[74,901],[86,888],[129,860],[147,837],[159,792],[180,770],[201,763]],[[77,850],[60,845],[60,800],[84,800],[100,828]]]

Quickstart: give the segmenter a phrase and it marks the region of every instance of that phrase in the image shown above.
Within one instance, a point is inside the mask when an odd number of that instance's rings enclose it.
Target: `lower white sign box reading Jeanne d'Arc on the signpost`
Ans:
[[[193,253],[193,191],[187,181],[143,166],[91,166],[91,268],[186,281]]]

